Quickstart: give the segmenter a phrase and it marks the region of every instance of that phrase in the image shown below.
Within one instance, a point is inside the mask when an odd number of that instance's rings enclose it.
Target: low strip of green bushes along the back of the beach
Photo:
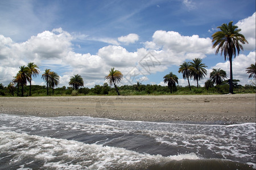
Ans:
[[[256,87],[253,85],[241,86],[238,84],[239,80],[233,80],[234,93],[236,94],[249,94],[255,93]],[[51,88],[51,87],[50,87]],[[139,87],[137,84],[134,85],[123,85],[118,87],[119,93],[121,95],[171,95],[170,88],[168,86],[152,85],[152,84],[140,84]],[[14,87],[14,96],[17,96],[18,88]],[[19,94],[20,94],[19,89]],[[13,96],[13,92],[9,90],[8,87],[4,87],[0,84],[0,96]],[[29,96],[30,86],[24,86],[24,96]],[[32,96],[47,96],[46,86],[32,85],[31,86],[31,95]],[[229,80],[225,80],[222,84],[216,86],[208,87],[199,87],[189,86],[181,87],[175,86],[172,87],[172,95],[218,95],[218,94],[228,94],[229,93]],[[59,87],[55,88],[54,95],[50,96],[84,96],[84,95],[108,95],[113,96],[117,95],[114,87],[108,86],[107,83],[101,85],[95,85],[93,88],[79,88],[79,90],[74,90],[72,87]]]

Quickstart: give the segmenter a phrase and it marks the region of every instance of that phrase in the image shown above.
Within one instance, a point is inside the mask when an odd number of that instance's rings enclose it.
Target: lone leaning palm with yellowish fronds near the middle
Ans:
[[[117,91],[117,95],[119,96],[120,94],[115,83],[121,82],[121,80],[123,79],[123,74],[120,71],[114,69],[115,68],[113,67],[111,70],[109,70],[109,75],[105,76],[104,79],[108,80],[110,86],[114,84],[115,91]]]

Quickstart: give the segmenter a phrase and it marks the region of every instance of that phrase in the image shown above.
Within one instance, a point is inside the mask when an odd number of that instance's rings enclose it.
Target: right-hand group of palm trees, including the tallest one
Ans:
[[[233,69],[232,69],[232,57],[236,58],[236,53],[239,55],[240,50],[243,50],[243,46],[240,44],[245,44],[247,40],[245,39],[245,36],[243,36],[237,25],[233,25],[233,22],[229,22],[229,24],[222,24],[221,26],[217,27],[220,29],[220,31],[217,31],[213,33],[212,35],[212,42],[213,42],[213,48],[216,48],[216,55],[218,52],[224,53],[224,58],[226,61],[226,58],[229,59],[230,63],[230,80],[229,80],[229,93],[233,94]],[[193,77],[194,80],[197,81],[197,87],[198,82],[200,79],[203,79],[205,74],[207,74],[207,70],[204,68],[207,67],[203,63],[201,63],[200,58],[193,59],[193,62],[184,62],[182,65],[180,65],[179,73],[181,72],[183,74],[184,79],[188,79],[188,85],[191,90],[190,84],[189,84],[189,77]],[[246,69],[247,73],[250,74],[249,78],[253,77],[255,79],[255,65],[251,64],[250,67]],[[213,81],[215,84],[220,84],[222,80],[226,78],[226,72],[221,69],[213,69],[212,73],[210,73],[210,81]],[[171,82],[170,82],[171,81]],[[175,85],[175,82],[177,81],[177,76],[170,73],[166,76],[164,76],[164,82],[168,82],[168,86],[172,87]]]

